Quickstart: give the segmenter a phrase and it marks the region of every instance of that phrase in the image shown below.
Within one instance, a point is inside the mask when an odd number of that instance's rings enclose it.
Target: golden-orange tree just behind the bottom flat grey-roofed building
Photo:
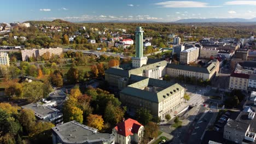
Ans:
[[[101,130],[103,128],[103,118],[102,116],[100,115],[92,115],[90,114],[88,117],[87,117],[87,125],[88,127],[92,127],[92,128],[96,128],[98,130]]]

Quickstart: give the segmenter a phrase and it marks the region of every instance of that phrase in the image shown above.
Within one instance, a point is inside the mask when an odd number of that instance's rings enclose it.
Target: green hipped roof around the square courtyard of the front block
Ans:
[[[160,103],[165,98],[171,97],[182,89],[184,88],[178,83],[147,78],[132,83],[124,88],[120,93]]]

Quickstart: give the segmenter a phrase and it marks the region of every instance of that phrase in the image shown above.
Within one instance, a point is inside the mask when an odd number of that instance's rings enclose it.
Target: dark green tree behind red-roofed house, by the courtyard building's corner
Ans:
[[[151,121],[153,118],[150,112],[144,108],[138,109],[135,115],[138,119],[138,122],[142,123],[143,125],[148,124],[148,122]]]

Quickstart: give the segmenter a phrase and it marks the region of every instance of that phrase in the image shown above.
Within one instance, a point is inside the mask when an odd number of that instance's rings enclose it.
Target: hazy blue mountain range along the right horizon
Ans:
[[[253,19],[241,19],[241,18],[232,18],[232,19],[217,19],[217,18],[210,18],[210,19],[182,19],[178,21],[174,21],[178,23],[190,23],[190,22],[256,22],[256,17]]]

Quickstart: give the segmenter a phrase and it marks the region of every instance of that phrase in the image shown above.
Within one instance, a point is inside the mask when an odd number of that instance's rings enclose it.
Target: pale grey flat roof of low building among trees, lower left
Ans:
[[[57,110],[50,106],[42,106],[39,104],[31,103],[28,105],[21,106],[23,109],[31,109],[34,111],[34,115],[38,117],[39,119],[43,119],[45,117],[48,117],[51,115],[51,113],[54,112],[60,112],[60,110]]]

